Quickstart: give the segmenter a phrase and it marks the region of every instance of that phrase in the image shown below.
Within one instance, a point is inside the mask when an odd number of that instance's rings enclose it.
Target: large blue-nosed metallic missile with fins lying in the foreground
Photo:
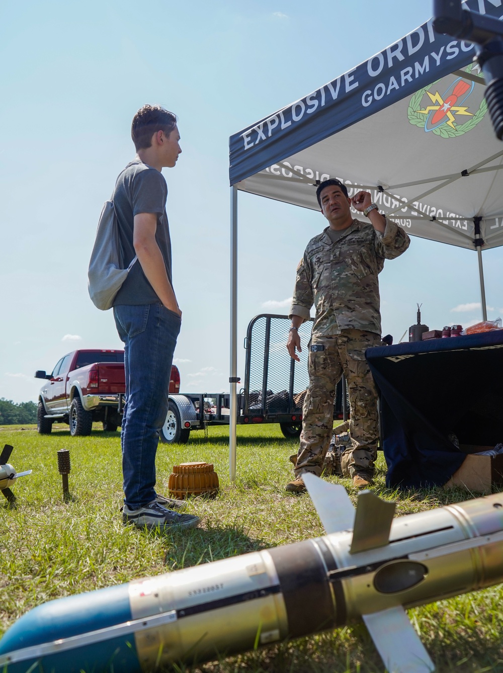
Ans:
[[[393,519],[303,476],[325,536],[42,604],[0,640],[0,670],[149,672],[358,621],[390,672],[434,670],[405,608],[503,581],[503,494]]]

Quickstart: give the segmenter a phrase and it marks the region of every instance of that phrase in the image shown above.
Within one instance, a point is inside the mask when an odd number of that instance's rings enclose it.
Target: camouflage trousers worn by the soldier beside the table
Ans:
[[[377,393],[368,363],[367,348],[380,346],[380,336],[363,330],[343,330],[334,336],[315,336],[309,349],[309,388],[302,410],[302,433],[295,475],[323,470],[333,434],[335,386],[345,375],[351,417],[351,448],[343,454],[343,471],[349,476],[374,475],[378,441]]]

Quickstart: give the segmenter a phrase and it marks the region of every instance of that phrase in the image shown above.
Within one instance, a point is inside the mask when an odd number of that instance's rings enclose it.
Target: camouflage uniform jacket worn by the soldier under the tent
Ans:
[[[392,220],[380,234],[370,223],[354,219],[335,243],[325,229],[310,240],[297,267],[290,318],[308,320],[314,304],[313,336],[349,328],[380,334],[377,277],[384,260],[398,257],[409,244],[409,236]]]

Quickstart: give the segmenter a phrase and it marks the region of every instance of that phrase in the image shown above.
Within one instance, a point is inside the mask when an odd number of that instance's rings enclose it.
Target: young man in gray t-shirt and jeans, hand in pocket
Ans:
[[[182,316],[172,286],[168,186],[161,173],[175,166],[182,151],[176,116],[145,105],[133,118],[131,137],[137,154],[117,178],[113,195],[123,267],[138,256],[114,299],[126,370],[123,522],[139,528],[192,528],[199,518],[175,511],[185,503],[155,490],[159,429],[168,413]]]

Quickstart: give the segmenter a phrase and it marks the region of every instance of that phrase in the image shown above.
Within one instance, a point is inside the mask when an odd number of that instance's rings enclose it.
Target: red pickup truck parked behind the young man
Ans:
[[[38,394],[37,429],[47,435],[54,421],[68,423],[70,434],[89,435],[94,421],[115,431],[121,425],[126,383],[124,351],[83,349],[68,353],[45,379]],[[178,367],[171,369],[170,393],[180,390]]]

